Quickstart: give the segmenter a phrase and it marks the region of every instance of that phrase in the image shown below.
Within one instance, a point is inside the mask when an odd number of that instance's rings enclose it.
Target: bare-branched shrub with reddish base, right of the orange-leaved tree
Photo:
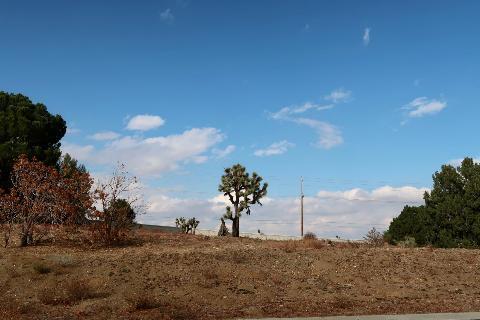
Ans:
[[[98,182],[94,199],[99,208],[90,216],[94,240],[113,244],[126,239],[134,226],[132,210],[144,210],[137,178],[119,163],[110,178]]]

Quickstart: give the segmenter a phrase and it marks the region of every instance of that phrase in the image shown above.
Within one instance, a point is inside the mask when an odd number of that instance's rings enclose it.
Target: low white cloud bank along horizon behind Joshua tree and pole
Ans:
[[[405,205],[423,203],[426,188],[383,186],[372,191],[351,189],[319,191],[304,199],[305,231],[320,237],[361,239],[369,229],[385,230]],[[219,219],[228,201],[223,195],[211,199],[181,199],[152,192],[145,223],[174,225],[175,217],[192,216],[200,220],[200,229],[218,230]],[[250,216],[240,220],[241,232],[265,234],[299,234],[299,199],[296,197],[266,198],[263,206],[252,208]],[[227,221],[230,223],[230,221]],[[229,226],[230,228],[230,226]]]

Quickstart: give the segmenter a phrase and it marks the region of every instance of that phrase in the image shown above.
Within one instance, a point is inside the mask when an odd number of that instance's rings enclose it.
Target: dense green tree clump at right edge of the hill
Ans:
[[[391,243],[413,237],[418,245],[477,247],[480,245],[480,164],[465,158],[455,168],[442,166],[425,192],[425,205],[406,206],[386,233]]]

